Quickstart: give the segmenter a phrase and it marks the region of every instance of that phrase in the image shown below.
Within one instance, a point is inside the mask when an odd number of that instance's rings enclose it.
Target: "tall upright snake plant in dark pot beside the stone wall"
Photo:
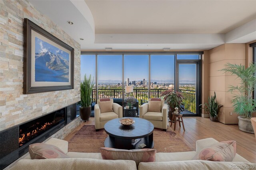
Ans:
[[[81,106],[80,106],[80,118],[82,121],[88,121],[90,119],[92,111],[92,88],[94,86],[93,80],[91,81],[91,75],[87,79],[84,75],[84,81],[80,83],[81,87]]]

